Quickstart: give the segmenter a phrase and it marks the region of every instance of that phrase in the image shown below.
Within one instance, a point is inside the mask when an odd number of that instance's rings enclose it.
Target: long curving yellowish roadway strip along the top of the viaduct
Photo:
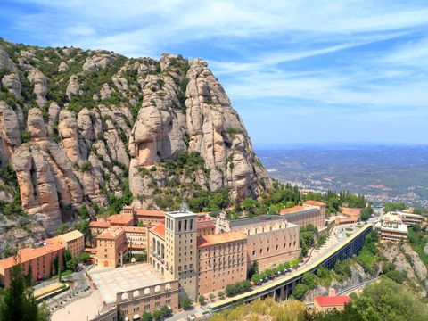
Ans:
[[[286,284],[292,284],[292,283],[298,283],[300,278],[303,276],[303,274],[307,272],[314,272],[317,270],[317,268],[329,265],[331,262],[330,260],[334,258],[334,255],[340,253],[340,251],[346,249],[346,246],[351,245],[353,242],[360,240],[359,237],[364,237],[370,230],[372,229],[371,224],[366,224],[365,226],[359,228],[359,230],[354,233],[353,235],[350,235],[348,240],[341,243],[339,246],[334,247],[333,249],[325,252],[324,255],[322,255],[319,259],[316,259],[314,262],[310,263],[307,267],[302,268],[296,272],[294,272],[290,276],[284,276],[281,278],[278,278],[274,280],[273,282],[265,285],[261,285],[259,288],[251,290],[249,292],[244,292],[242,294],[235,295],[234,297],[227,298],[225,300],[219,300],[218,302],[214,302],[210,304],[211,311],[219,311],[221,309],[226,309],[231,306],[234,306],[235,304],[238,304],[240,302],[248,302],[251,300],[254,300],[258,297],[262,297],[264,295],[268,295],[269,293],[275,292],[276,289],[281,288],[282,286]],[[359,249],[360,250],[360,249]],[[359,251],[358,250],[358,251]],[[353,252],[353,251],[352,251]],[[355,253],[352,253],[355,254]],[[345,254],[344,256],[347,256],[348,254]],[[335,261],[335,259],[334,259]]]

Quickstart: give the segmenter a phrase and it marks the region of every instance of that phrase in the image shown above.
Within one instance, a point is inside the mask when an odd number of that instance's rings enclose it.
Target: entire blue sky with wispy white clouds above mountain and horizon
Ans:
[[[428,144],[428,1],[0,2],[0,37],[209,62],[257,148]]]

